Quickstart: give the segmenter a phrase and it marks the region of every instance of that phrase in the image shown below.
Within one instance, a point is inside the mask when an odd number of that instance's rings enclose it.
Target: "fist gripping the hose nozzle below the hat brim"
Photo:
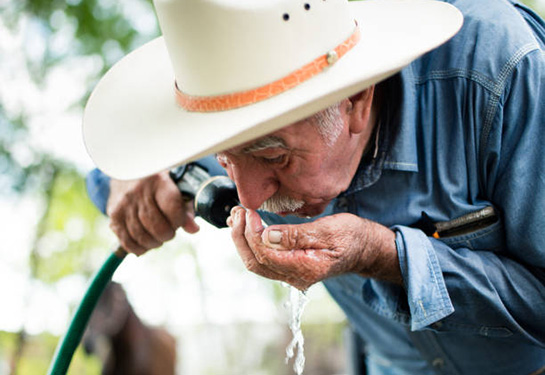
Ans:
[[[134,181],[110,181],[110,228],[128,252],[142,255],[172,239],[179,227],[199,230],[191,202],[184,202],[168,171]]]

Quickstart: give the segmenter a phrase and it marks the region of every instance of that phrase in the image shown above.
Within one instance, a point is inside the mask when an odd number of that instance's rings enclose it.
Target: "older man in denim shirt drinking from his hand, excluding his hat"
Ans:
[[[509,1],[452,3],[464,26],[445,45],[216,150],[244,207],[229,225],[251,271],[324,281],[371,374],[541,374],[545,27]],[[112,228],[137,254],[198,230],[182,206],[166,172],[111,180]],[[263,228],[259,208],[332,215]]]

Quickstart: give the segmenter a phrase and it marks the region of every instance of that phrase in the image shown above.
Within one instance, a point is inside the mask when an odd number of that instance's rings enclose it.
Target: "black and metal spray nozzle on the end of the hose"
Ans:
[[[190,163],[170,172],[184,199],[194,200],[195,215],[225,228],[231,208],[239,204],[237,188],[226,176],[210,177],[198,164]]]

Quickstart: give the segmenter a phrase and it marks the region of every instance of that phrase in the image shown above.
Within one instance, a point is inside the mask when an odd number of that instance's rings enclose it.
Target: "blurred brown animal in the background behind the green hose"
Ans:
[[[117,283],[100,298],[83,345],[101,358],[103,375],[175,374],[176,340],[165,329],[144,324]]]

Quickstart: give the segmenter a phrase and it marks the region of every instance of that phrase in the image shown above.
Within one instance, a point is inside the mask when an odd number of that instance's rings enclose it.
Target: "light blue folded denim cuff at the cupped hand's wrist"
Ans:
[[[439,260],[430,239],[404,226],[396,232],[396,247],[407,292],[412,331],[420,330],[454,312]]]

